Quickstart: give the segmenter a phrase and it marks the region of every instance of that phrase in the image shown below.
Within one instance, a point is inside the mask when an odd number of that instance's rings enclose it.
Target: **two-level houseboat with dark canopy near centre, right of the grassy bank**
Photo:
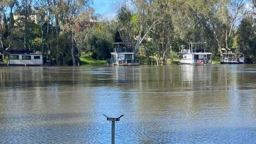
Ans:
[[[119,42],[112,43],[113,51],[111,53],[111,59],[107,59],[107,64],[112,65],[139,65],[140,59],[135,59],[135,52],[132,47],[128,46],[128,43]]]

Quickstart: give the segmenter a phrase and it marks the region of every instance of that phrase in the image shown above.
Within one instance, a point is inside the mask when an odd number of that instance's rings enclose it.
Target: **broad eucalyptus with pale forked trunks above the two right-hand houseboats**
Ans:
[[[212,51],[229,47],[235,25],[251,11],[247,4],[246,0],[175,1],[174,31],[185,41],[211,41]]]

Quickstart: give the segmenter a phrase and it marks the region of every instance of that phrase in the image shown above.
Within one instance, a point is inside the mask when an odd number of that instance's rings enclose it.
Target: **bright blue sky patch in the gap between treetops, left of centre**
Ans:
[[[114,19],[117,14],[117,8],[112,0],[93,0],[92,7],[96,14],[102,15],[103,19]]]

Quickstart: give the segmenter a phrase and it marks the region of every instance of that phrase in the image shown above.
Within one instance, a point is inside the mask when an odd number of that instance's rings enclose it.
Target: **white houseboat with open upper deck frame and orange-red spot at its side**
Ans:
[[[212,64],[212,53],[206,52],[206,42],[188,43],[186,46],[182,46],[178,56],[180,64]]]

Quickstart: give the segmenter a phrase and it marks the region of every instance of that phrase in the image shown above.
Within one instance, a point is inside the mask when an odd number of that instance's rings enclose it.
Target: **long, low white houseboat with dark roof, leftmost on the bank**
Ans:
[[[43,55],[28,50],[10,50],[8,65],[43,65]]]

